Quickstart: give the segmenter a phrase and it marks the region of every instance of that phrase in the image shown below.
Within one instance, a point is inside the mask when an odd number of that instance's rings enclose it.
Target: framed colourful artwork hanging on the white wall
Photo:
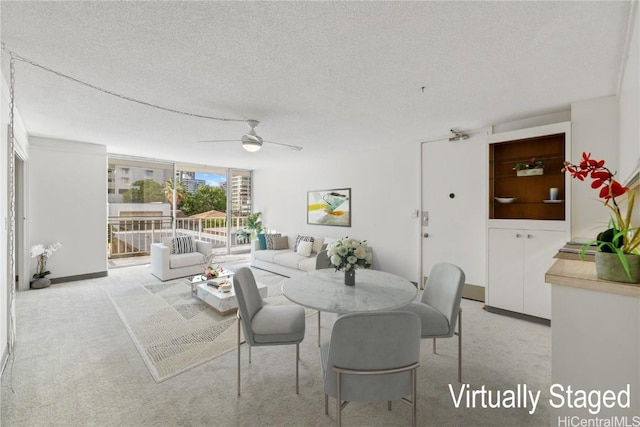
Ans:
[[[351,189],[308,191],[307,224],[351,227]]]

